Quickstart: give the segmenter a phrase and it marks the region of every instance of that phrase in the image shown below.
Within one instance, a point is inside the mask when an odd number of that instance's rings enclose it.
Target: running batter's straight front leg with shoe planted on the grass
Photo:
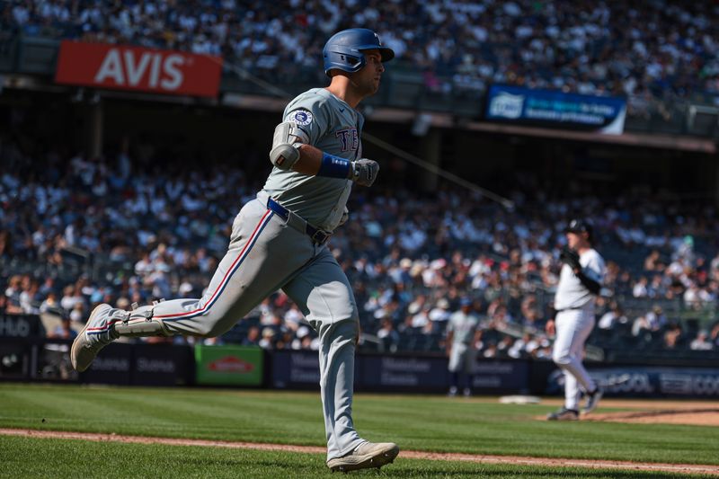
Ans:
[[[359,315],[350,282],[332,253],[322,247],[315,260],[288,282],[288,294],[320,337],[320,387],[327,439],[327,466],[348,471],[392,462],[393,443],[361,439],[352,421],[354,353]]]

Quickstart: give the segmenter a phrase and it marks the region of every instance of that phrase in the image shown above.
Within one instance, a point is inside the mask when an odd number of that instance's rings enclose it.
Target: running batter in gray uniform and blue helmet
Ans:
[[[228,251],[200,299],[173,299],[133,311],[97,306],[73,343],[84,371],[120,336],[225,333],[262,299],[282,288],[319,334],[320,386],[333,471],[381,467],[399,448],[361,439],[351,416],[359,314],[350,282],[326,246],[347,219],[353,183],[371,186],[379,165],[362,158],[364,119],[356,110],[377,93],[383,63],[395,57],[374,31],[351,29],[324,46],[326,88],[288,103],[274,131],[274,165],[256,200],[240,210]]]

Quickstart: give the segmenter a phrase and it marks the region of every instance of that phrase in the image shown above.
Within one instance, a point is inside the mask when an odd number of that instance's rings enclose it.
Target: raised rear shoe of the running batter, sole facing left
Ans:
[[[113,309],[105,303],[95,307],[84,324],[83,331],[75,338],[70,350],[70,362],[76,371],[83,372],[89,368],[97,353],[115,340],[110,324],[113,311],[121,310]]]

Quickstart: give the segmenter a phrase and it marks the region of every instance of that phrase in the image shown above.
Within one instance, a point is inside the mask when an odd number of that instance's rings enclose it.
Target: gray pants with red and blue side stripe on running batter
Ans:
[[[143,306],[167,334],[213,337],[225,333],[265,297],[282,288],[319,334],[320,386],[327,460],[357,448],[352,423],[355,340],[359,315],[350,282],[326,245],[289,226],[258,194],[235,217],[225,257],[200,299],[173,299]],[[126,328],[122,328],[126,329]]]

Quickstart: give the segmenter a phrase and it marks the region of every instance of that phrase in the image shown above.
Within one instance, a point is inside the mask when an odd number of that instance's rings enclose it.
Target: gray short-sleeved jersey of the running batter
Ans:
[[[309,137],[309,144],[350,161],[362,155],[359,137],[364,118],[348,103],[324,88],[301,93],[288,103],[283,121],[294,121]],[[350,196],[351,180],[311,176],[274,167],[266,191],[282,206],[310,224],[332,232],[340,224]]]

